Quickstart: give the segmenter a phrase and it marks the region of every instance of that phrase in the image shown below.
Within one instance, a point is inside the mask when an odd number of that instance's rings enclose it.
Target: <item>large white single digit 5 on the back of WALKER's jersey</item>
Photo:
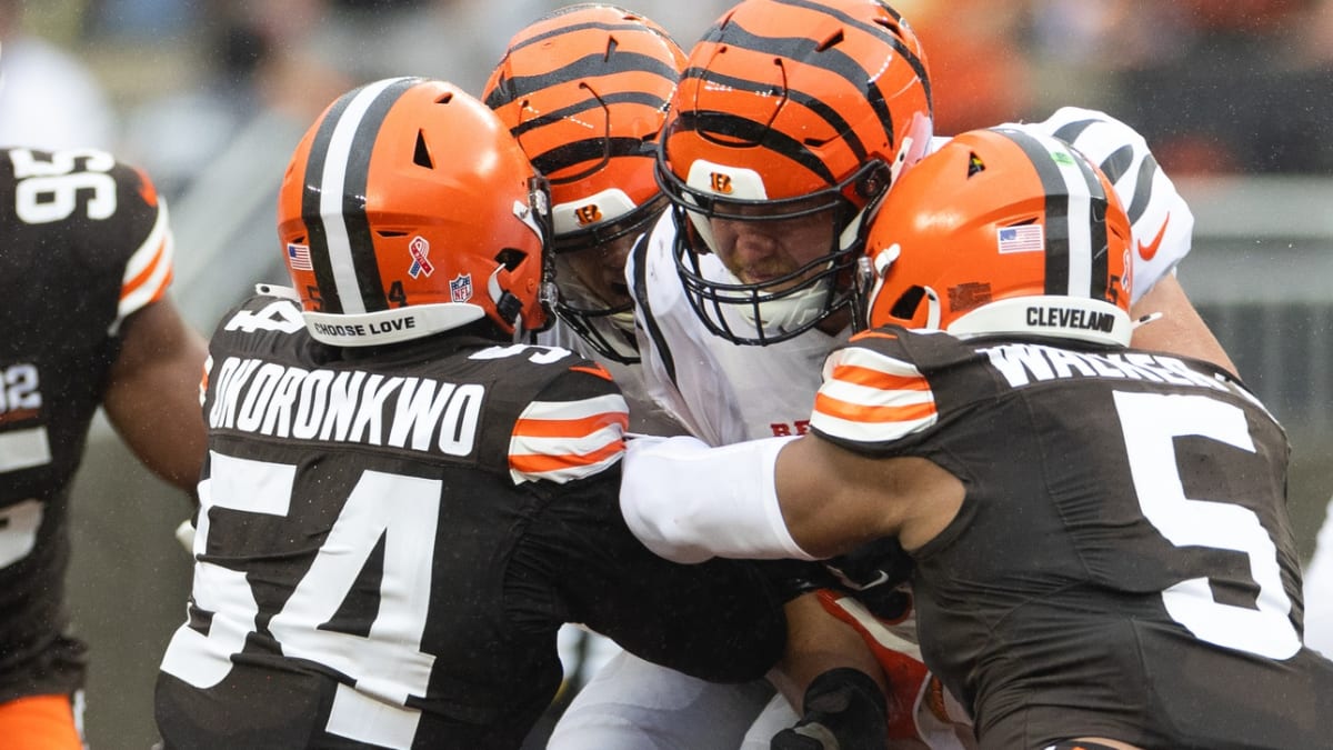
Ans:
[[[1245,552],[1258,585],[1256,609],[1217,602],[1206,577],[1190,578],[1162,591],[1166,613],[1196,638],[1270,659],[1288,659],[1301,649],[1290,621],[1292,601],[1282,589],[1277,546],[1254,511],[1226,502],[1185,496],[1173,439],[1200,435],[1254,452],[1238,407],[1197,395],[1116,392],[1116,412],[1125,434],[1129,468],[1138,504],[1168,542]]]

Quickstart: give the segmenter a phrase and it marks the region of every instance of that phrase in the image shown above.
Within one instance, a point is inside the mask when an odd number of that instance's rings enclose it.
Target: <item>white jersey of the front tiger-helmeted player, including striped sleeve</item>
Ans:
[[[1194,216],[1133,128],[1076,107],[1061,108],[1041,123],[1009,127],[1066,140],[1106,172],[1132,223],[1136,302],[1189,254]],[[932,147],[948,140],[934,139]],[[674,246],[676,224],[666,212],[625,270],[635,290],[648,395],[712,446],[804,434],[824,356],[849,331],[829,336],[810,330],[769,346],[736,344],[716,336],[685,298]],[[700,256],[700,270],[705,276],[724,278],[714,255]]]

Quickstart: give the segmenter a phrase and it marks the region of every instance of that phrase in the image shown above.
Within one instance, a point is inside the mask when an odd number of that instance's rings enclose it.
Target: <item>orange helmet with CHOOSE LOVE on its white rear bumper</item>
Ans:
[[[343,95],[277,202],[307,328],[372,346],[484,318],[515,338],[547,327],[548,202],[500,119],[459,87],[397,77]]]

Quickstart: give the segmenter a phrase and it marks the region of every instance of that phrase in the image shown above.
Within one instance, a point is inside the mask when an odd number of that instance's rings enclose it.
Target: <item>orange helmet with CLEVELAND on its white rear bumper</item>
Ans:
[[[893,187],[866,240],[869,324],[1125,346],[1129,218],[1069,144],[970,131]]]

